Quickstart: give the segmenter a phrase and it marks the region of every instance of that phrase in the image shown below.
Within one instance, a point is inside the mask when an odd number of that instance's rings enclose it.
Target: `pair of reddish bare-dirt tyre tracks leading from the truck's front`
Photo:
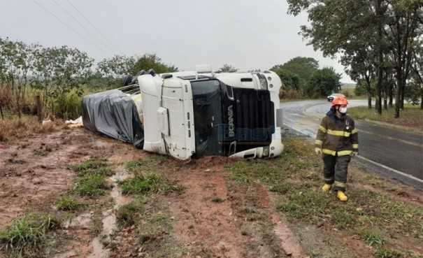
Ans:
[[[174,218],[175,236],[185,242],[187,248],[210,250],[213,257],[273,257],[267,243],[257,241],[257,236],[244,232],[243,227],[248,223],[248,218],[241,214],[243,204],[240,203],[248,193],[237,187],[228,190],[228,173],[224,171],[223,164],[229,162],[229,159],[204,157],[195,162],[198,166],[173,171],[169,175],[169,178],[187,187],[184,194],[167,200]],[[287,224],[274,212],[275,208],[266,188],[259,183],[252,185],[252,191],[258,196],[258,213],[262,213],[267,217],[266,220],[273,223],[273,236],[278,238],[275,242],[282,246],[289,257],[308,257]],[[222,202],[213,202],[216,197],[222,199]],[[263,246],[251,250],[249,245]],[[188,253],[188,257],[189,255],[193,254]]]

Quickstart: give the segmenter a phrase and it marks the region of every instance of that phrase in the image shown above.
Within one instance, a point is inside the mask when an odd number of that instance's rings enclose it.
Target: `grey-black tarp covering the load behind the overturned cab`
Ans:
[[[135,103],[118,89],[84,96],[83,124],[90,131],[143,148],[144,130]]]

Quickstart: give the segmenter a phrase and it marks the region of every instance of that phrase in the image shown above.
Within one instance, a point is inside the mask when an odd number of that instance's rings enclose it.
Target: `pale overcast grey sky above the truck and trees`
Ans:
[[[0,0],[0,37],[68,45],[95,62],[156,54],[179,71],[196,64],[264,71],[312,57],[320,69],[342,73],[341,83],[354,83],[338,59],[299,35],[307,14],[294,17],[287,8],[286,0]]]

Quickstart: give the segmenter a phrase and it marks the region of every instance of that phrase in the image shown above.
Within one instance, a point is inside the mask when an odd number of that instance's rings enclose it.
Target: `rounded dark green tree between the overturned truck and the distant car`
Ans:
[[[308,96],[327,96],[340,91],[341,74],[333,67],[324,67],[313,73],[308,81],[306,93]]]

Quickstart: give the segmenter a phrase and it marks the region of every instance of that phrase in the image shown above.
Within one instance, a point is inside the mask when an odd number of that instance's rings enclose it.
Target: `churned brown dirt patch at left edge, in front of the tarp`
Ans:
[[[65,130],[5,144],[0,149],[0,227],[69,189],[73,179],[69,165],[85,159],[73,153],[84,148],[87,140],[83,130]]]

